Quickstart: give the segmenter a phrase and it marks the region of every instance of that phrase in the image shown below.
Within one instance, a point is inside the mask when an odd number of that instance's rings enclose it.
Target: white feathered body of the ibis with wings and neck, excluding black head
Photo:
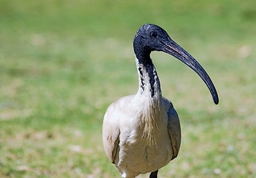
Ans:
[[[178,115],[172,103],[161,96],[156,68],[153,66],[151,71],[154,79],[152,94],[149,73],[138,59],[136,63],[138,93],[112,103],[103,119],[106,154],[125,178],[167,165],[177,156],[181,139]],[[176,129],[172,131],[171,125]]]

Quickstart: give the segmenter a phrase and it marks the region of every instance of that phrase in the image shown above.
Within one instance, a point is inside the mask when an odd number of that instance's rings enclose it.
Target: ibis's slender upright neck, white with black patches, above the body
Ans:
[[[156,67],[150,59],[150,54],[146,56],[136,56],[138,70],[138,94],[148,96],[153,100],[161,98],[161,87]]]

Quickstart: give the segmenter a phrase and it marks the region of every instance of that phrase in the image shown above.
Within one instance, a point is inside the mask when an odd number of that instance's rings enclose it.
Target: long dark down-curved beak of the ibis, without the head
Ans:
[[[214,103],[217,105],[219,103],[219,97],[217,94],[217,90],[214,87],[213,82],[211,82],[210,77],[205,72],[203,67],[199,65],[199,63],[194,59],[186,50],[184,50],[182,47],[179,46],[179,44],[176,44],[176,42],[173,42],[172,39],[169,39],[165,42],[161,42],[162,48],[161,50],[165,53],[169,53],[170,55],[176,57],[177,59],[181,60],[185,63],[185,65],[188,65],[188,67],[191,67],[205,82],[208,89],[211,92],[211,96],[214,99]]]

